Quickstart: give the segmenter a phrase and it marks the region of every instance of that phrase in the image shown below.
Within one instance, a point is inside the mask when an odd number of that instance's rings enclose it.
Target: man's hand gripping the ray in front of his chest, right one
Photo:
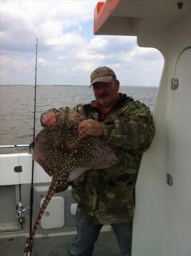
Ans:
[[[88,135],[94,137],[102,137],[103,127],[101,123],[95,121],[94,119],[86,119],[78,125],[78,135],[82,139]]]

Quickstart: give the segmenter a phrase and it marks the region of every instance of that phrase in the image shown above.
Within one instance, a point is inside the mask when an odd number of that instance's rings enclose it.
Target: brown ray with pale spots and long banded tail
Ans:
[[[113,150],[102,139],[92,136],[82,139],[78,137],[78,124],[83,119],[82,115],[66,107],[60,110],[55,129],[44,128],[36,136],[32,157],[52,176],[52,181],[32,234],[27,238],[24,249],[26,256],[31,250],[41,217],[53,194],[66,190],[69,186],[68,179],[76,179],[83,171],[106,168],[117,163]]]

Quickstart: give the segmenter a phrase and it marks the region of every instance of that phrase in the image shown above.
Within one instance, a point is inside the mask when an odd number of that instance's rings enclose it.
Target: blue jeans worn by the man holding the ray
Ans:
[[[92,256],[94,243],[97,241],[102,224],[89,225],[88,221],[76,213],[77,236],[72,242],[68,255]],[[122,255],[131,256],[132,222],[111,224]]]

